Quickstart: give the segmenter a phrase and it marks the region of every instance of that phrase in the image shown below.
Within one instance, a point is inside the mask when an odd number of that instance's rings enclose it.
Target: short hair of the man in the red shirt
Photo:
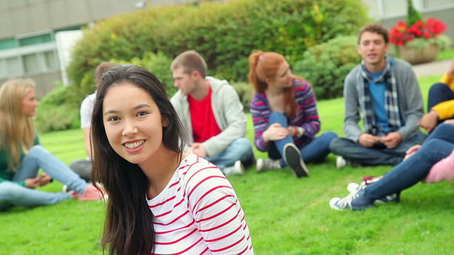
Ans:
[[[175,57],[172,61],[170,69],[175,70],[183,67],[185,74],[191,74],[194,71],[200,73],[201,77],[206,77],[206,62],[201,55],[195,50],[187,50]]]

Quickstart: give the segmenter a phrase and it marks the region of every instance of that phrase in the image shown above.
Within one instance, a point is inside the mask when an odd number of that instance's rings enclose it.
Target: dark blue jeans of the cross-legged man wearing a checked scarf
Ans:
[[[402,141],[395,148],[375,148],[364,147],[358,142],[346,138],[338,138],[333,140],[329,145],[331,152],[343,157],[349,162],[355,162],[364,166],[391,165],[395,166],[402,162],[405,152],[413,145],[421,145],[426,139],[426,134],[416,132],[411,137]]]

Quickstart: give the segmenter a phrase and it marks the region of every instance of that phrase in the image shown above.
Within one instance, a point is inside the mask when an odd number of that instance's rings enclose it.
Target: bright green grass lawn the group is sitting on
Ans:
[[[423,95],[440,76],[419,79]],[[322,131],[343,135],[343,99],[320,101]],[[248,138],[253,126],[248,115]],[[70,164],[84,157],[82,130],[40,136],[43,145]],[[256,157],[266,157],[257,152]],[[245,211],[255,254],[452,254],[452,183],[417,184],[402,193],[400,204],[366,211],[331,210],[328,200],[345,196],[350,181],[379,175],[390,166],[309,164],[311,176],[296,179],[290,169],[229,176]],[[61,183],[42,188],[57,192]],[[104,203],[66,200],[57,205],[0,212],[0,254],[101,254]]]

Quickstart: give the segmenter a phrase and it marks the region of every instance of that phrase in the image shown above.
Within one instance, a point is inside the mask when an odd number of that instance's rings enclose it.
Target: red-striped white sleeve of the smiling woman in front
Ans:
[[[248,254],[253,249],[250,233],[231,183],[221,171],[203,165],[188,170],[184,188],[197,229],[212,254]]]

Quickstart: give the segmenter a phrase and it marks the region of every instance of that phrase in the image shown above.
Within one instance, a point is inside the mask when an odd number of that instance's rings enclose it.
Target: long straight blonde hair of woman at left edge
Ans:
[[[9,170],[17,171],[21,152],[28,154],[35,142],[33,118],[22,109],[23,98],[34,88],[32,79],[11,79],[0,88],[0,148],[6,149]]]

